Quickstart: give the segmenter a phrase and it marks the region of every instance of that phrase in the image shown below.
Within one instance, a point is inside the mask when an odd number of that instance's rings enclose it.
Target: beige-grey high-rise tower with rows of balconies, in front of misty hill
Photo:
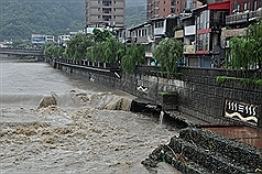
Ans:
[[[125,0],[86,0],[86,28],[122,28]]]

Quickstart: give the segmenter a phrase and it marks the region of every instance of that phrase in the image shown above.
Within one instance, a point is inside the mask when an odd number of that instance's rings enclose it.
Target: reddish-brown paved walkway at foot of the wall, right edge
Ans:
[[[262,149],[262,131],[250,127],[212,127],[210,131]]]

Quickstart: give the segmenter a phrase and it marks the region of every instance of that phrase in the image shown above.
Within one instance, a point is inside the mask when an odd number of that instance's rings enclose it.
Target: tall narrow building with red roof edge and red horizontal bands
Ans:
[[[205,4],[193,10],[196,24],[195,54],[199,67],[220,67],[225,51],[221,50],[221,29],[226,26],[230,1]]]

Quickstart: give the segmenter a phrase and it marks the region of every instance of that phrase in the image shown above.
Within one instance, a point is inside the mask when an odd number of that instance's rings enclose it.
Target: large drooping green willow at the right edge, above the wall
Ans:
[[[262,21],[250,25],[245,35],[230,40],[230,56],[227,67],[231,69],[261,69],[262,62]]]

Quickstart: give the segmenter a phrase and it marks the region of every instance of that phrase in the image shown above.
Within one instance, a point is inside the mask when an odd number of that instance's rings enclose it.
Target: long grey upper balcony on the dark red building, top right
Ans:
[[[254,19],[262,19],[262,9],[258,9],[256,11],[242,12],[238,14],[232,14],[226,17],[226,24],[239,24],[252,21]]]

